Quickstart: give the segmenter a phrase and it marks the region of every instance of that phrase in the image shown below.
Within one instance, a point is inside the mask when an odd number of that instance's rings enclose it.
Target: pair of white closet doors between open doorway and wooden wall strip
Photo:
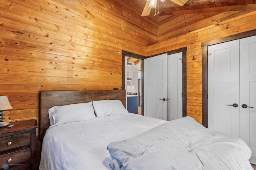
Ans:
[[[144,115],[182,117],[182,52],[144,59]]]

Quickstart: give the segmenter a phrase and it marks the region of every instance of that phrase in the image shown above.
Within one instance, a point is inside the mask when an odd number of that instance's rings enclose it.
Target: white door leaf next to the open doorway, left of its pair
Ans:
[[[166,98],[167,54],[144,59],[144,115],[167,120]]]

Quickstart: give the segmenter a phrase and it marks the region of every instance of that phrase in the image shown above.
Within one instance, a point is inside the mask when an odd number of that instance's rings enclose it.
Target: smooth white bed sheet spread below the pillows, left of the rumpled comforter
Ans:
[[[132,138],[166,122],[126,113],[51,127],[44,136],[39,169],[111,169],[110,142]]]

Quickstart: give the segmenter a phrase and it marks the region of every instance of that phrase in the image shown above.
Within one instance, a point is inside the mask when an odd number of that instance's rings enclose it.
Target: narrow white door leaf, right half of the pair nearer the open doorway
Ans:
[[[168,55],[168,121],[182,118],[182,52]]]

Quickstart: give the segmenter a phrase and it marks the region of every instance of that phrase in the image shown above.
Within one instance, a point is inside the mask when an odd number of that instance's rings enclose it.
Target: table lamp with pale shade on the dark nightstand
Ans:
[[[12,106],[10,105],[8,101],[7,96],[0,96],[0,127],[6,127],[9,125],[9,122],[4,122],[4,114],[3,111],[7,109],[12,109]]]

